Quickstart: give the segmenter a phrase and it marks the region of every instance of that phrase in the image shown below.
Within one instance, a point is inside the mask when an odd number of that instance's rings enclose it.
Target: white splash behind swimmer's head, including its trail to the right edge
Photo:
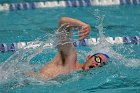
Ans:
[[[119,53],[120,49],[123,49],[123,53],[125,54],[125,51],[130,51],[128,54],[131,53],[131,51],[134,51],[130,47],[123,46],[116,46],[118,50],[113,49],[113,45],[110,44],[106,40],[105,32],[103,29],[103,22],[104,22],[104,16],[96,16],[96,18],[99,20],[99,25],[96,26],[96,28],[99,31],[99,38],[98,38],[98,44],[93,46],[92,48],[92,54],[94,53],[105,53],[110,56],[110,58],[113,59],[115,62],[120,62],[121,64],[127,66],[127,67],[139,67],[140,61],[136,58],[127,58],[126,55],[122,55]]]

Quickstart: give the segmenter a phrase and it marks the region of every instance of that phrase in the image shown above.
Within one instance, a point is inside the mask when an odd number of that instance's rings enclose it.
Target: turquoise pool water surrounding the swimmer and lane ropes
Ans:
[[[53,41],[61,16],[90,24],[92,31],[88,38],[99,37],[99,31],[95,28],[99,24],[97,16],[104,16],[102,25],[106,37],[140,36],[139,8],[125,5],[1,12],[0,43],[32,41],[41,46],[20,49],[15,54],[0,53],[0,93],[139,93],[140,45],[110,45],[102,42],[97,46],[77,47],[80,62],[84,62],[91,51],[103,51],[111,57],[109,64],[90,71],[61,75],[49,81],[29,78],[23,74],[30,69],[39,70],[57,53],[55,48],[43,49],[43,45]],[[26,64],[25,59],[32,56],[31,65]]]

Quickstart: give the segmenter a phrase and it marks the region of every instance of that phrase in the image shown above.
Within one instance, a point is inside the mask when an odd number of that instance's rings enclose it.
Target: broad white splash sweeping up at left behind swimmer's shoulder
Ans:
[[[53,35],[51,34],[37,38],[35,41],[28,43],[27,46],[15,52],[5,62],[3,62],[0,65],[0,83],[2,84],[11,80],[16,80],[19,83],[24,84],[25,79],[27,79],[26,73],[34,69],[33,66],[29,65],[29,62],[44,50],[49,50],[46,43],[53,43],[54,41],[52,38]],[[30,47],[34,45],[37,46]]]

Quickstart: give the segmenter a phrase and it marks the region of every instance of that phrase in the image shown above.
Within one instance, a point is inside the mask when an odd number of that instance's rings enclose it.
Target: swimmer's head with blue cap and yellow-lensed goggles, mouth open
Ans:
[[[94,67],[101,67],[107,64],[108,59],[109,59],[109,56],[103,53],[96,53],[94,55],[88,55],[82,69],[89,70]]]

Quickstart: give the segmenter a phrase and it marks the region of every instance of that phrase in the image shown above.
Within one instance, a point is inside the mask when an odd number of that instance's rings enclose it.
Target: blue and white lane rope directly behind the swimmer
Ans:
[[[100,38],[90,38],[84,39],[82,41],[74,41],[73,44],[75,47],[80,46],[91,46],[99,43]],[[107,37],[106,41],[110,44],[140,44],[140,36],[125,36],[125,37]],[[22,48],[36,48],[40,46],[39,44],[34,44],[34,42],[19,42],[19,43],[2,43],[0,44],[1,52],[15,52],[18,49]],[[52,48],[52,43],[47,43],[46,48]]]

